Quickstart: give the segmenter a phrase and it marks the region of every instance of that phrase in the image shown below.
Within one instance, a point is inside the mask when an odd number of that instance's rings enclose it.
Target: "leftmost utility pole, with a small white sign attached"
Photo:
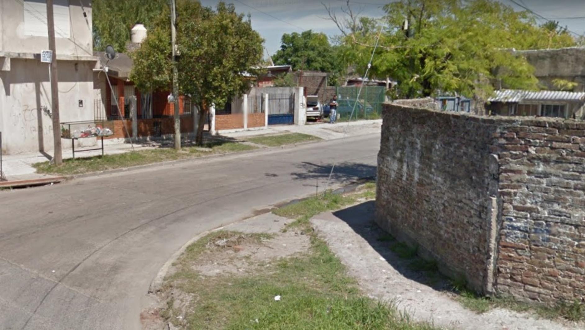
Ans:
[[[50,79],[51,79],[51,118],[53,119],[53,163],[61,165],[61,125],[59,123],[59,86],[57,84],[57,50],[55,46],[55,23],[53,18],[53,0],[47,0],[47,28],[49,29],[49,50],[51,56]]]

